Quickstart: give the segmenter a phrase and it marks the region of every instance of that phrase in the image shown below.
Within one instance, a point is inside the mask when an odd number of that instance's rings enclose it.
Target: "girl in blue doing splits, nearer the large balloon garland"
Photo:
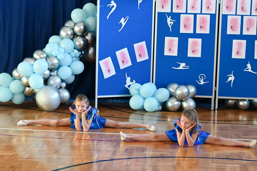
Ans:
[[[113,120],[105,119],[97,114],[97,110],[89,106],[89,100],[84,94],[79,94],[73,103],[75,106],[70,107],[71,117],[61,120],[41,119],[41,120],[20,120],[17,125],[53,125],[53,126],[71,126],[77,131],[83,129],[87,132],[89,129],[99,129],[103,127],[110,128],[146,128],[150,131],[155,131],[156,127],[153,125],[132,123],[132,122],[115,122]]]

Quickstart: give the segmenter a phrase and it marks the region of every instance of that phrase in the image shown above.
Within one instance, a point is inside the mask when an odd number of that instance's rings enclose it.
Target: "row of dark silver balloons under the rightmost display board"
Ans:
[[[257,99],[247,100],[247,99],[225,99],[225,106],[228,108],[238,107],[241,110],[247,110],[250,104],[254,109],[257,109]]]

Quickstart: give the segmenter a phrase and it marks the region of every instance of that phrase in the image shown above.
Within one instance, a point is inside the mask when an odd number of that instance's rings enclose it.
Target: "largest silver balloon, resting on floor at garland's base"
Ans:
[[[55,110],[61,103],[61,94],[53,86],[44,86],[39,89],[36,95],[38,107],[45,111]]]

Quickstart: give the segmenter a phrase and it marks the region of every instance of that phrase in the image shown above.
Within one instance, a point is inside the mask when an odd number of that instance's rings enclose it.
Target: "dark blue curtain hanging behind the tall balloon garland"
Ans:
[[[12,71],[35,50],[45,48],[53,35],[71,19],[71,12],[96,0],[0,0],[0,73]],[[74,99],[83,93],[95,95],[95,63],[81,61],[84,71],[66,89]]]

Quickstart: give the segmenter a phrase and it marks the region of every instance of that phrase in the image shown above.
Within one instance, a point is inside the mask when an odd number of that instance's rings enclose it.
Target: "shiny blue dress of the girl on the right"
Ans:
[[[180,121],[180,119],[179,119],[179,121]],[[176,120],[174,122],[174,126],[180,133],[182,133],[182,129],[177,125]],[[201,126],[200,126],[200,128],[201,128]],[[197,127],[196,131],[198,131],[200,128]],[[177,142],[177,131],[176,131],[176,129],[172,129],[172,130],[169,130],[169,131],[165,132],[166,135],[169,137],[169,139],[173,142]],[[193,132],[191,131],[189,134],[190,134],[190,137],[191,137]],[[197,139],[196,139],[194,145],[203,144],[205,142],[205,140],[207,139],[208,135],[210,135],[210,133],[200,130],[198,135],[197,135]],[[188,144],[186,138],[185,138],[185,144]]]

